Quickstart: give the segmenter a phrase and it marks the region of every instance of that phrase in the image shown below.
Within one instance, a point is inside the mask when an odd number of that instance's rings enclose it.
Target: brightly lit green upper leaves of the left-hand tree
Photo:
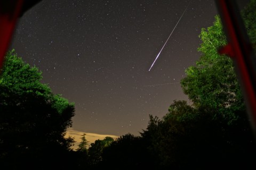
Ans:
[[[15,50],[7,52],[2,74],[0,75],[1,87],[13,94],[36,93],[47,95],[50,88],[42,84],[42,72],[36,67],[30,67],[17,56]]]

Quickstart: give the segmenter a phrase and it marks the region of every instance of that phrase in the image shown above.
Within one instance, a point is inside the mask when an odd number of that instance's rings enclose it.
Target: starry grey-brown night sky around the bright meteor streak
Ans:
[[[19,19],[10,48],[75,103],[76,131],[139,135],[149,114],[162,118],[173,100],[188,100],[179,82],[217,14],[212,0],[189,2],[45,0]]]

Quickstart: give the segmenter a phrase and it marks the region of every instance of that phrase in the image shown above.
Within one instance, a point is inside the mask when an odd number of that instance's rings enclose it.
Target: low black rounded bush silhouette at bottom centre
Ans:
[[[101,167],[113,169],[151,169],[145,143],[140,136],[130,133],[118,137],[103,149]]]

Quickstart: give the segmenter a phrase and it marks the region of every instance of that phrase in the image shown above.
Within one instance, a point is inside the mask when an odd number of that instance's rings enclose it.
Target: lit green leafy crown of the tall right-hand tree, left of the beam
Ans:
[[[217,50],[227,43],[220,18],[215,17],[213,26],[202,29],[202,44],[198,51],[201,58],[195,66],[186,69],[181,80],[183,92],[194,106],[204,107],[215,117],[226,118],[229,123],[237,119],[236,111],[245,110],[243,96],[234,71],[233,61]]]

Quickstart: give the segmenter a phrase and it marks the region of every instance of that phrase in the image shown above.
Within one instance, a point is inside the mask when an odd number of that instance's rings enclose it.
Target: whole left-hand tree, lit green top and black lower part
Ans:
[[[0,75],[0,160],[9,168],[58,163],[55,158],[61,159],[74,143],[65,138],[74,103],[54,95],[41,79],[42,72],[14,50],[6,53]]]

